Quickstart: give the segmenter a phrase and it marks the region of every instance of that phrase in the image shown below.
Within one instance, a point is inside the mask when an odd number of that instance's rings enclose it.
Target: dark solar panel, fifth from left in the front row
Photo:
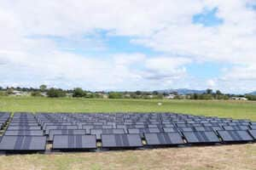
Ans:
[[[185,139],[189,144],[204,144],[204,143],[218,143],[220,140],[218,136],[214,132],[205,132],[205,131],[197,131],[197,132],[183,132]]]

